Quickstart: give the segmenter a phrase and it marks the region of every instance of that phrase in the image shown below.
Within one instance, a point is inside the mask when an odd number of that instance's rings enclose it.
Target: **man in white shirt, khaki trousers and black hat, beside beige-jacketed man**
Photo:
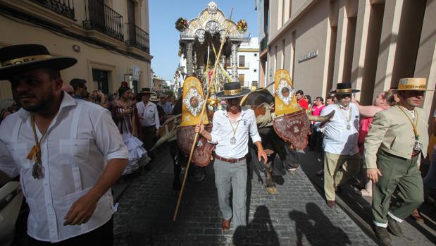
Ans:
[[[324,128],[324,191],[328,207],[334,209],[335,190],[359,172],[360,155],[357,147],[359,137],[359,109],[351,102],[351,83],[337,84],[337,104],[330,104],[321,111],[326,116],[336,111]]]

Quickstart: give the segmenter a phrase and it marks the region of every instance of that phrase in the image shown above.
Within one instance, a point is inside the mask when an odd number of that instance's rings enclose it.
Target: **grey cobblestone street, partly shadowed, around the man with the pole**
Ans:
[[[212,165],[202,183],[187,183],[175,222],[177,197],[171,189],[168,150],[150,166],[151,171],[135,178],[118,201],[116,245],[232,245],[233,228],[225,233],[220,228]],[[375,245],[344,211],[327,207],[301,169],[275,173],[280,173],[275,177],[278,195],[269,195],[256,174],[249,177],[248,245]]]

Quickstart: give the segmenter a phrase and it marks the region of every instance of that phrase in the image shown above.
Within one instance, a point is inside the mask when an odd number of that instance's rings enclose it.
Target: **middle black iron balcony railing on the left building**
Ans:
[[[104,4],[102,0],[87,0],[85,4],[85,29],[104,32],[116,39],[124,40],[123,16]]]

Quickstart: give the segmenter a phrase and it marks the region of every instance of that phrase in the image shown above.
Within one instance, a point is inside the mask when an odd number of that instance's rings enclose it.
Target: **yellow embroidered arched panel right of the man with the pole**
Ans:
[[[291,76],[285,69],[275,71],[275,115],[299,111]]]

